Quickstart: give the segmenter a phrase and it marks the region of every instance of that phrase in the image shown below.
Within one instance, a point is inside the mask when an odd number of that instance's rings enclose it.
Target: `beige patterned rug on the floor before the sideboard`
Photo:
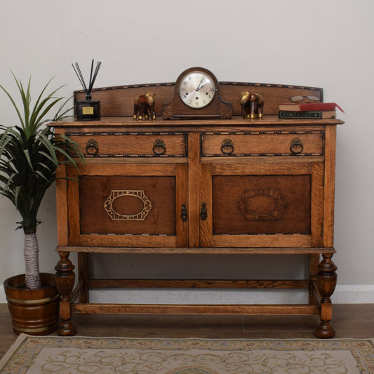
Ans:
[[[20,335],[1,374],[374,373],[374,340],[60,338]]]

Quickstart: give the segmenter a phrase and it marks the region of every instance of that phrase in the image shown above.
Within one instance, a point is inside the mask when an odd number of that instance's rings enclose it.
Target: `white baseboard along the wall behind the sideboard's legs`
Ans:
[[[306,302],[303,290],[92,290],[91,302],[159,303],[159,304],[288,304]],[[374,304],[374,285],[339,285],[332,296],[333,304]],[[0,288],[0,302],[6,302]]]

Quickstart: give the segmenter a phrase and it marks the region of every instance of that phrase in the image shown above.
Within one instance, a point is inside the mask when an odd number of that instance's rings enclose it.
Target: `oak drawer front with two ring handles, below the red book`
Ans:
[[[202,133],[201,156],[321,156],[324,131]]]

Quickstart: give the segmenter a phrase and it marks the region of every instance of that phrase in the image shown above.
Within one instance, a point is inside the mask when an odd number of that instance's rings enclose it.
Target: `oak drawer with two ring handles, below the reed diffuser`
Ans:
[[[86,157],[187,157],[187,133],[67,133]]]

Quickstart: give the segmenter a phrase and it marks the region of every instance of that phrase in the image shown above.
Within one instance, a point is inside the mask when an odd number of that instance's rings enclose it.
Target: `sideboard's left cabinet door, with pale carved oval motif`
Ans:
[[[186,164],[86,163],[69,182],[69,245],[187,246]]]

